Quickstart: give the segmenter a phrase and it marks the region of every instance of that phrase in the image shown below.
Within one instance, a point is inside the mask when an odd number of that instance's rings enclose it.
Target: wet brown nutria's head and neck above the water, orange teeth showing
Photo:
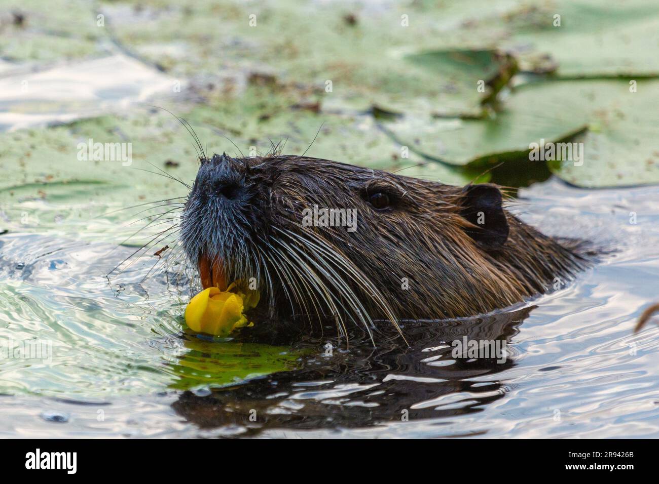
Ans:
[[[181,242],[204,286],[250,281],[272,317],[340,325],[487,313],[588,265],[503,208],[498,186],[285,155],[202,159]]]

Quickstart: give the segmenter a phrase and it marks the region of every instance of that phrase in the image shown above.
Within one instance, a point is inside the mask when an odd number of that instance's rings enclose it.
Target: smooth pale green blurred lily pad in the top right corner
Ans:
[[[499,45],[529,70],[550,62],[565,77],[659,74],[659,4],[653,0],[558,0],[520,9],[505,24],[509,34]]]

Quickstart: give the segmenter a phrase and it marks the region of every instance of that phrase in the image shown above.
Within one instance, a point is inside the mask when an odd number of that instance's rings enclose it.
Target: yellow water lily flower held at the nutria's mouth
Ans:
[[[256,290],[237,290],[233,282],[225,291],[209,287],[196,294],[185,308],[185,323],[192,331],[215,336],[227,336],[236,328],[251,325],[243,311],[258,304],[260,294]]]

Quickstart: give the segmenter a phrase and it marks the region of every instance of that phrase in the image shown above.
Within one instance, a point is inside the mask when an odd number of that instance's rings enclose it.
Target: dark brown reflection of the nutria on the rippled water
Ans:
[[[173,407],[202,428],[239,425],[250,435],[264,429],[364,427],[480,412],[503,398],[505,389],[496,374],[514,365],[512,355],[501,359],[505,361],[453,358],[452,342],[466,337],[509,343],[531,309],[460,321],[408,322],[403,331],[409,348],[395,334],[380,335],[377,348],[366,335],[353,334],[349,352],[329,356],[319,341],[317,356],[304,369],[211,394],[184,392]]]

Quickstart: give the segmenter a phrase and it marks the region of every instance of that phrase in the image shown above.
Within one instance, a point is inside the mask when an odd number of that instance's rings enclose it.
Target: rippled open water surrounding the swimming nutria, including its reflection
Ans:
[[[550,179],[520,196],[525,221],[615,252],[501,313],[405,323],[409,348],[393,331],[373,348],[355,330],[349,350],[329,338],[331,354],[328,338],[186,333],[185,277],[140,283],[150,264],[138,261],[105,278],[133,249],[75,235],[109,232],[102,217],[4,234],[0,340],[43,353],[3,355],[0,436],[658,437],[659,328],[632,330],[659,300],[659,189]],[[453,358],[463,336],[505,340],[505,362]]]

